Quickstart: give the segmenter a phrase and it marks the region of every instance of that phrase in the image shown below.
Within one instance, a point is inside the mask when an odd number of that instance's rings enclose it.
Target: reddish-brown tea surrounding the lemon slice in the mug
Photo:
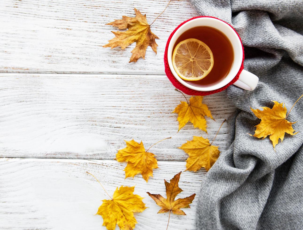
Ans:
[[[197,26],[181,34],[175,42],[173,50],[179,42],[188,38],[198,39],[208,45],[214,56],[214,66],[209,74],[203,79],[197,81],[184,81],[198,87],[209,87],[218,84],[228,75],[233,64],[234,52],[231,42],[221,31],[215,28]]]

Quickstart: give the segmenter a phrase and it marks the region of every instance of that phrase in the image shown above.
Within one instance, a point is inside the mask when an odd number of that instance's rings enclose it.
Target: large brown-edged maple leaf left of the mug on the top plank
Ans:
[[[108,44],[103,47],[115,48],[120,46],[125,49],[130,44],[136,42],[136,47],[131,51],[132,57],[129,62],[136,62],[140,57],[145,59],[145,51],[148,46],[157,54],[157,43],[155,39],[158,37],[151,32],[150,25],[147,23],[146,15],[142,15],[140,11],[135,8],[136,16],[126,17],[115,20],[106,25],[112,25],[119,29],[128,29],[127,31],[112,31],[115,38],[108,41]]]

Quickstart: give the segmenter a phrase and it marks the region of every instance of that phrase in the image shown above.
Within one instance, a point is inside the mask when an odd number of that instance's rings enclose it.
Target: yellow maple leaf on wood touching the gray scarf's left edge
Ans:
[[[209,140],[201,136],[194,136],[193,140],[184,143],[180,149],[188,154],[185,171],[197,172],[201,167],[208,171],[219,157],[218,146],[211,145]]]

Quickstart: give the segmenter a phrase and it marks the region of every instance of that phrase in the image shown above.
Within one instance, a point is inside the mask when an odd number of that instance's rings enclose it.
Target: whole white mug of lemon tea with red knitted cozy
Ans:
[[[243,69],[241,38],[225,21],[209,16],[181,23],[168,38],[165,73],[187,94],[208,95],[234,84],[254,90],[258,77]]]

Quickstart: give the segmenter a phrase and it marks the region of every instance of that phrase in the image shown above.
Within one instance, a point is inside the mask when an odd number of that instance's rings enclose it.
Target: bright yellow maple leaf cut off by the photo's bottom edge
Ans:
[[[147,207],[143,197],[133,194],[135,187],[121,186],[116,188],[111,200],[102,200],[97,214],[103,218],[103,225],[114,230],[118,224],[121,230],[134,229],[138,223],[134,212],[143,212]]]

